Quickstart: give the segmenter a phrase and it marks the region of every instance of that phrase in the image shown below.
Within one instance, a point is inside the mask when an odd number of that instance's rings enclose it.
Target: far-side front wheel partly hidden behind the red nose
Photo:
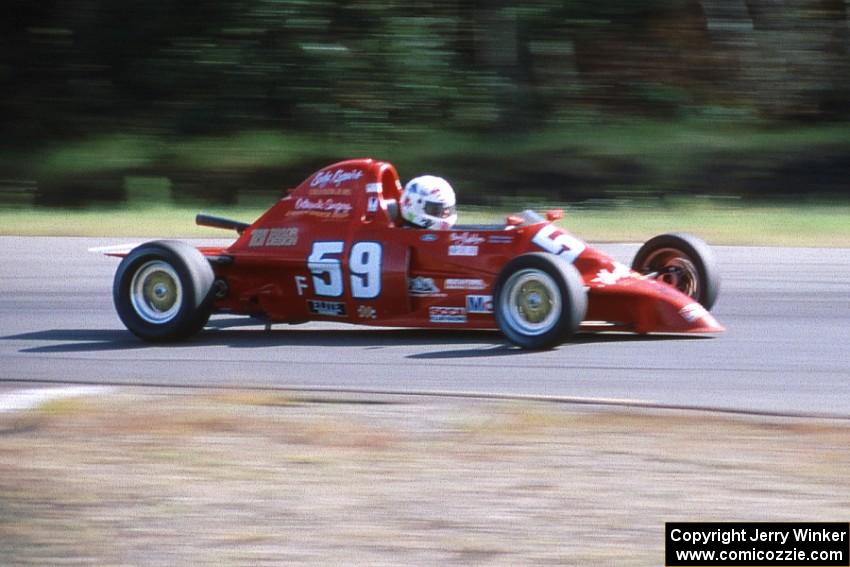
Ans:
[[[714,251],[692,234],[661,234],[640,247],[632,269],[672,285],[711,309],[720,293],[720,272]]]

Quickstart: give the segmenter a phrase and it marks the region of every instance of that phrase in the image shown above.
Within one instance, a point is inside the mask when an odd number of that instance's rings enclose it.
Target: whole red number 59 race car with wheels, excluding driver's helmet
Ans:
[[[212,313],[267,323],[337,321],[390,327],[495,329],[515,345],[553,347],[579,330],[716,333],[719,279],[711,249],[686,234],[615,262],[532,211],[498,225],[405,226],[395,168],[372,159],[328,166],[228,247],[154,241],[115,275],[118,315],[148,341],[185,339]]]

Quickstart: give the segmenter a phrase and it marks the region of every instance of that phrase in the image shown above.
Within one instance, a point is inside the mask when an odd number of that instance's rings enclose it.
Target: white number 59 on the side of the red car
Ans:
[[[313,276],[316,295],[340,297],[344,291],[342,254],[345,243],[341,240],[314,242],[307,258],[307,268]],[[351,296],[357,299],[374,299],[381,294],[381,262],[383,249],[377,242],[355,242],[348,253],[348,271]]]

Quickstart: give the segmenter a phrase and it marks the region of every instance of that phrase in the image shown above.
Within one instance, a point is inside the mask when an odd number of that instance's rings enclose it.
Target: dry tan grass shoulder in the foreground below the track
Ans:
[[[5,564],[663,563],[665,521],[837,520],[850,424],[118,390],[0,414]]]

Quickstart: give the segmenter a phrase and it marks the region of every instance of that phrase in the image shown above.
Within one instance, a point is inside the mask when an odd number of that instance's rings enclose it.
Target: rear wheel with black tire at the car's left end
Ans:
[[[173,240],[147,242],[121,261],[112,299],[118,317],[140,339],[179,341],[209,321],[214,280],[197,248]]]

